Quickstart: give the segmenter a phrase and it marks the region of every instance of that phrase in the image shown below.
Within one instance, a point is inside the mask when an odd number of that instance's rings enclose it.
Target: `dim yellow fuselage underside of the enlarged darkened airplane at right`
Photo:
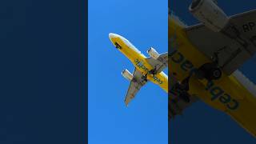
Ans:
[[[211,61],[190,43],[184,27],[177,21],[176,18],[169,18],[168,35],[172,38],[170,44],[177,49],[172,50],[170,54],[169,70],[170,73],[176,74],[178,81],[182,81],[191,70]],[[189,93],[229,114],[250,134],[256,136],[256,97],[250,94],[234,75],[222,73],[222,78],[213,83],[192,77]]]

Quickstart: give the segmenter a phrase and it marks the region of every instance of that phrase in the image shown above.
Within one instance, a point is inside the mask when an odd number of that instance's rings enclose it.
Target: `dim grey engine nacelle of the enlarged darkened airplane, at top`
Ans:
[[[216,3],[214,0],[193,0],[189,10],[210,30],[219,32],[228,24],[229,17]]]

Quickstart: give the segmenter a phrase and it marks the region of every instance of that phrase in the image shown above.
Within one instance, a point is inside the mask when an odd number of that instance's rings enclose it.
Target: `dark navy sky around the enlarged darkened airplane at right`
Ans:
[[[187,25],[197,23],[196,19],[188,11],[190,2],[187,0],[170,0],[172,10]],[[256,8],[255,0],[219,0],[218,4],[228,15]],[[254,83],[256,82],[255,59],[254,57],[246,62],[241,68],[242,72]],[[194,106],[188,108],[183,116],[178,116],[174,121],[171,121],[169,136],[172,144],[186,144],[188,142],[197,144],[256,143],[256,139],[238,126],[233,119],[203,102],[194,103]]]

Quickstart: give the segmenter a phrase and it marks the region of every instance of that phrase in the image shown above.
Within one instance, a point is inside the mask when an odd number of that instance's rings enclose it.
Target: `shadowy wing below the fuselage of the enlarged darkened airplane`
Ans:
[[[172,91],[174,85],[178,82],[172,74],[170,74],[170,92],[168,98],[168,118],[174,118],[176,115],[181,115],[183,110],[191,106],[192,103],[197,102],[198,98],[193,95],[190,95],[190,102],[185,102],[182,98],[178,97],[178,94],[175,94]]]

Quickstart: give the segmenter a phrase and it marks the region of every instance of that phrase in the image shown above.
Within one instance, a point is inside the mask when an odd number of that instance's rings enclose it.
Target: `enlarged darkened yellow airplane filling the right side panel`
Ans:
[[[256,86],[238,70],[256,52],[256,10],[228,17],[213,0],[194,0],[189,10],[201,23],[168,18],[168,118],[201,100],[256,137]]]

